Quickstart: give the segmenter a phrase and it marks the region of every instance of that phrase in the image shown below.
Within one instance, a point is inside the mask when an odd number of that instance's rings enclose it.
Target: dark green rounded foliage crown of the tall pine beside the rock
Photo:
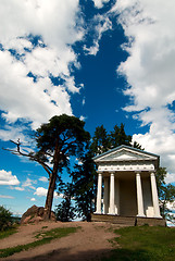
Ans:
[[[36,132],[38,151],[32,160],[49,162],[58,171],[68,166],[70,157],[78,157],[89,140],[89,133],[84,129],[85,123],[75,116],[62,114],[53,116]],[[47,167],[49,171],[49,167]]]

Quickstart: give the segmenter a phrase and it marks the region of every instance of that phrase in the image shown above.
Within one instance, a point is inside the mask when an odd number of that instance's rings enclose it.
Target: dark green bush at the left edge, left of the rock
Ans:
[[[0,231],[5,231],[12,225],[12,213],[3,206],[0,206]]]

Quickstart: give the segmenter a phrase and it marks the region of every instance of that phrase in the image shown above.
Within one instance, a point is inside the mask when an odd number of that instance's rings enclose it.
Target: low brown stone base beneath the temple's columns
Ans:
[[[163,219],[155,217],[140,217],[140,216],[121,216],[112,214],[91,214],[92,222],[110,222],[121,226],[166,226],[166,222]]]

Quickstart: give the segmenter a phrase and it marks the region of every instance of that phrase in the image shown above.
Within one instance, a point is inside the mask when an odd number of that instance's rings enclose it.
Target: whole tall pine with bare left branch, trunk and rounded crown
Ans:
[[[45,204],[45,220],[50,219],[53,192],[57,178],[63,167],[68,167],[70,157],[80,157],[85,144],[89,140],[89,133],[84,129],[85,123],[75,116],[62,114],[53,116],[49,123],[42,124],[35,134],[36,151],[25,153],[21,150],[21,142],[16,150],[10,150],[14,154],[28,157],[38,162],[49,174],[49,188]]]

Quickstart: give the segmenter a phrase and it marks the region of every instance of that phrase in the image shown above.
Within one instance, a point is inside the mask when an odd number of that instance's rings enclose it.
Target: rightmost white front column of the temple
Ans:
[[[154,217],[162,217],[160,214],[160,208],[159,208],[155,174],[151,173],[150,176],[151,176],[151,191],[152,191],[152,203],[153,203],[153,210],[154,210]]]

